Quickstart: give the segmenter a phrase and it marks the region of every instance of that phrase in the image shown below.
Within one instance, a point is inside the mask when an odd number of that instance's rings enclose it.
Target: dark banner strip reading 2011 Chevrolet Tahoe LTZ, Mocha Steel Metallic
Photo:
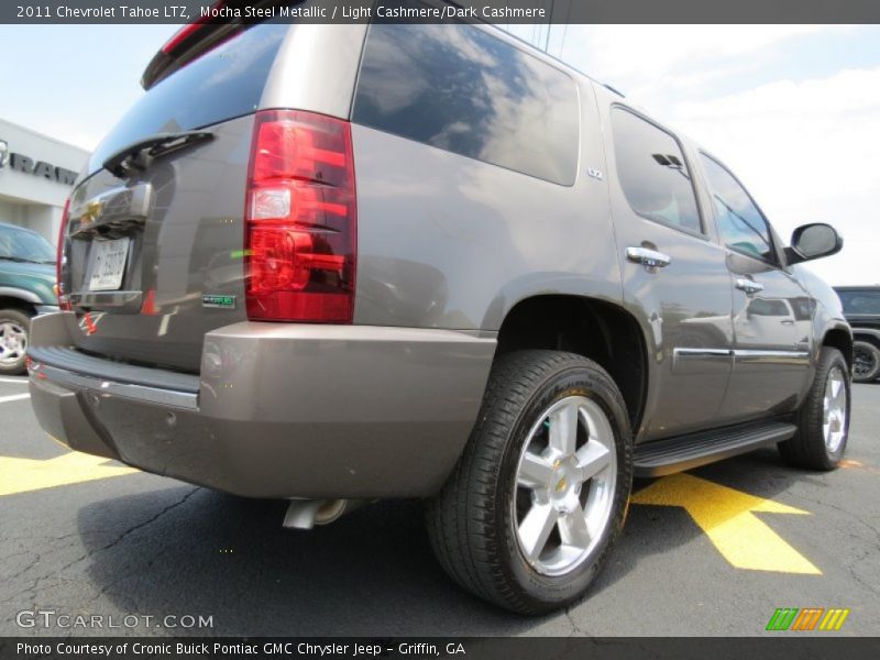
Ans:
[[[12,0],[2,23],[880,23],[878,0]]]

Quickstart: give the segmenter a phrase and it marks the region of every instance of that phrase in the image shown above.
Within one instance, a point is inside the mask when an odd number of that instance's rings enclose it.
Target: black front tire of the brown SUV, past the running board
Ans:
[[[844,409],[846,411],[843,421],[843,439],[836,447],[829,448],[825,440],[825,388],[831,375],[843,374],[843,387],[846,396]],[[849,436],[849,367],[844,360],[843,353],[831,346],[823,346],[820,354],[816,374],[810,392],[798,410],[796,424],[798,432],[791,440],[779,443],[779,451],[782,458],[795,468],[806,470],[834,470],[840,462],[846,451],[846,443]],[[839,427],[837,427],[839,428]]]

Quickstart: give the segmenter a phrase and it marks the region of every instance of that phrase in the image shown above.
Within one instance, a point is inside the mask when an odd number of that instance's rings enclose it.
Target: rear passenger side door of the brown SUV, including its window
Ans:
[[[711,240],[678,138],[620,103],[602,112],[624,299],[649,338],[641,436],[708,428],[732,362],[725,251]]]

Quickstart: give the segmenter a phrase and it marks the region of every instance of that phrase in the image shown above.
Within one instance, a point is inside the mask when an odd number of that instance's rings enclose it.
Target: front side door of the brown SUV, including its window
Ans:
[[[783,263],[770,223],[739,180],[700,154],[733,279],[734,371],[729,419],[793,410],[809,376],[813,301]]]

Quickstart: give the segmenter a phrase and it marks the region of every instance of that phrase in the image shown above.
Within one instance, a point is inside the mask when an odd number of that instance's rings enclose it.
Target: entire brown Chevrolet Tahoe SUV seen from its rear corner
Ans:
[[[328,522],[427,499],[446,571],[584,594],[634,475],[831,470],[853,339],[736,176],[488,25],[194,24],[76,182],[32,402],[70,448]]]

